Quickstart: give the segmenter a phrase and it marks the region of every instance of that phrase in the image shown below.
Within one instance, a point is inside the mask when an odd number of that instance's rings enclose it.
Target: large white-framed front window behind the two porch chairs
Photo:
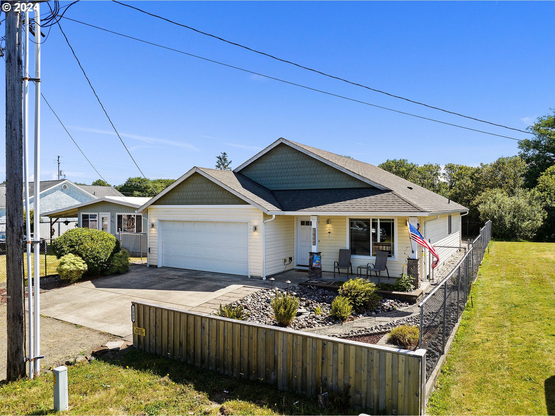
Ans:
[[[395,255],[395,220],[370,218],[349,220],[351,253],[359,256],[375,256],[380,250],[389,257]]]

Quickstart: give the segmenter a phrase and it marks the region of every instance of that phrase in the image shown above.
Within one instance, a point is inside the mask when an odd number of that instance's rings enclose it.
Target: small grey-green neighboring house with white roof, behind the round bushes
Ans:
[[[134,196],[103,196],[81,204],[43,212],[42,215],[51,219],[75,218],[78,221],[78,227],[94,228],[110,234],[117,234],[118,231],[143,232],[147,230],[148,220],[135,211],[149,199]]]

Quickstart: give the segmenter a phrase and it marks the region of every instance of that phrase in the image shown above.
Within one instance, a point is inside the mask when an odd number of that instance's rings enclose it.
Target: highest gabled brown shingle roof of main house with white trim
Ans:
[[[446,197],[436,194],[428,189],[413,184],[406,179],[402,179],[397,175],[380,169],[375,165],[361,162],[345,156],[337,155],[326,150],[313,148],[305,144],[296,143],[287,139],[278,139],[273,144],[256,154],[253,158],[246,161],[239,168],[234,169],[235,173],[240,173],[241,169],[258,159],[261,155],[273,149],[276,145],[284,143],[308,155],[311,155],[331,166],[339,166],[339,168],[355,177],[363,178],[371,184],[382,190],[390,190],[408,204],[414,206],[417,211],[421,212],[446,212],[446,211],[466,211],[465,206],[448,200]]]

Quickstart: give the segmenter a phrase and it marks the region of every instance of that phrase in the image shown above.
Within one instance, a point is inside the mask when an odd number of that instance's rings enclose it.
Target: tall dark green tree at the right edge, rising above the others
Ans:
[[[527,128],[535,136],[519,142],[519,156],[528,164],[526,186],[532,189],[538,177],[550,166],[555,165],[555,109],[553,114],[538,117],[536,123]]]

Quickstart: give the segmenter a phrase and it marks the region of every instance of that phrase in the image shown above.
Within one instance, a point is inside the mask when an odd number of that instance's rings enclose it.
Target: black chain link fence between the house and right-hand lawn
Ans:
[[[445,353],[451,336],[465,310],[472,283],[478,276],[491,240],[491,221],[480,229],[468,250],[450,273],[424,298],[420,307],[420,348],[426,348],[426,377],[429,378]]]

